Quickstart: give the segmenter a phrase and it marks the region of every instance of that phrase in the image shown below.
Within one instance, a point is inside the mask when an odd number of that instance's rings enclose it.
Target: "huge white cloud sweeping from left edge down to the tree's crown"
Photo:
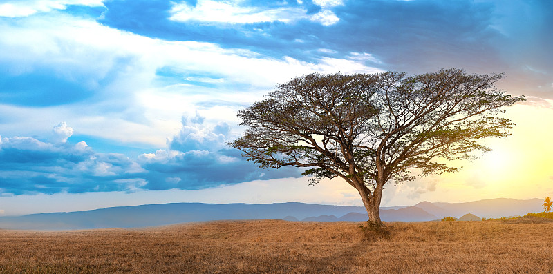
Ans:
[[[42,109],[0,104],[0,115],[10,117],[3,135],[46,137],[51,130],[46,125],[66,121],[82,135],[162,147],[166,137],[178,133],[182,113],[194,113],[198,102],[217,98],[235,103],[198,110],[211,124],[235,124],[238,108],[298,75],[382,72],[364,65],[358,55],[315,62],[276,59],[214,43],[151,39],[60,14],[28,17],[15,26],[0,23],[0,36],[0,60],[10,64],[10,74],[48,70],[94,90],[86,104]],[[156,70],[165,67],[182,73],[183,81],[216,88],[185,82],[158,86]],[[237,85],[248,88],[237,91]]]

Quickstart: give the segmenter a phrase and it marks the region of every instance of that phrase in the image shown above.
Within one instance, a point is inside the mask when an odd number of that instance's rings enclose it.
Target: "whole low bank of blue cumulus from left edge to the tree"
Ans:
[[[130,159],[97,153],[84,141],[71,144],[73,130],[54,127],[55,138],[0,138],[0,195],[203,189],[255,179],[301,177],[297,168],[263,170],[224,142],[232,128],[207,125],[204,117],[182,118],[182,129],[168,148]],[[56,139],[57,138],[57,139]]]

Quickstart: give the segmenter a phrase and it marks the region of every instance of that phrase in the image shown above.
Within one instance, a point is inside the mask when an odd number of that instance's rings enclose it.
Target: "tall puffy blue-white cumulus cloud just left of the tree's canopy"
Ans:
[[[182,128],[171,139],[168,149],[138,157],[138,163],[149,171],[144,187],[200,189],[254,179],[301,176],[297,168],[264,170],[245,161],[240,151],[225,145],[232,136],[232,128],[225,122],[209,126],[205,117],[198,114],[182,117]]]

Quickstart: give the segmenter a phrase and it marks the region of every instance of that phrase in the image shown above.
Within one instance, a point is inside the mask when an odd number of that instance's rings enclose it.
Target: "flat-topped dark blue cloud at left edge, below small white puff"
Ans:
[[[0,144],[2,193],[81,193],[126,190],[114,179],[136,173],[124,155],[95,153],[86,143],[49,143],[4,137]]]

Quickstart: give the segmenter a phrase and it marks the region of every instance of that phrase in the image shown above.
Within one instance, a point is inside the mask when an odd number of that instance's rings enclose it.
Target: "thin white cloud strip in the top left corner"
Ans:
[[[0,4],[0,17],[27,17],[37,12],[65,10],[68,5],[104,6],[103,0],[28,0]]]

